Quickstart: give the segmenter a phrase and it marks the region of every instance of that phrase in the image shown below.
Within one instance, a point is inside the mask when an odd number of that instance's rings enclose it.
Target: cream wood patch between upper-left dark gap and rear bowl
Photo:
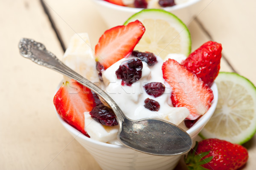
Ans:
[[[87,32],[94,50],[107,26],[90,0],[44,0],[44,2],[66,46],[74,34]]]

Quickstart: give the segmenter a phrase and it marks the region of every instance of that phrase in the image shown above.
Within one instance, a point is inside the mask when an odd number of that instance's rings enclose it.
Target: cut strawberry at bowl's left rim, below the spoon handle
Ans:
[[[84,130],[84,112],[90,112],[96,106],[90,89],[77,81],[66,81],[55,94],[53,103],[63,120],[90,137]]]

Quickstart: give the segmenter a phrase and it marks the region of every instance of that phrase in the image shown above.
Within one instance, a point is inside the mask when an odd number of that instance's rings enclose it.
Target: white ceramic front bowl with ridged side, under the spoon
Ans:
[[[209,110],[186,132],[194,139],[211,118],[218,101],[218,89],[212,85],[214,99]],[[57,113],[58,115],[58,113]],[[95,158],[102,170],[172,170],[180,156],[153,156],[125,146],[106,144],[86,137],[58,115],[61,124]]]

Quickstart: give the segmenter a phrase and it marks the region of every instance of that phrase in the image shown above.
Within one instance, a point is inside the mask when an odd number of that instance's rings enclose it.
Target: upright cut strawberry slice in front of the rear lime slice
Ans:
[[[143,24],[136,20],[127,26],[108,29],[95,46],[96,61],[107,69],[116,61],[128,57],[145,32]]]

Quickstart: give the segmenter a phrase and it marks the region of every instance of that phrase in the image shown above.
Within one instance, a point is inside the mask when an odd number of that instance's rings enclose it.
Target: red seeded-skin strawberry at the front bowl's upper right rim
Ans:
[[[183,62],[183,66],[210,87],[220,69],[221,50],[220,43],[208,41],[192,52]]]

